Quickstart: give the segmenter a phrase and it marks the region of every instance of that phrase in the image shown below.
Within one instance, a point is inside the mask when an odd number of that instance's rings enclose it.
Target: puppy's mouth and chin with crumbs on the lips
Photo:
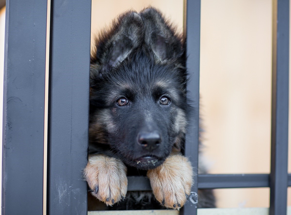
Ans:
[[[144,157],[135,159],[134,161],[128,160],[128,159],[124,160],[124,162],[127,165],[133,166],[141,170],[150,170],[150,169],[157,168],[158,166],[162,165],[164,161],[165,161],[165,158],[160,159],[154,156],[144,156]]]

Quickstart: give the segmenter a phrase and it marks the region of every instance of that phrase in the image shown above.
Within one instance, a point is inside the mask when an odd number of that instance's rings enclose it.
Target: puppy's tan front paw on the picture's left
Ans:
[[[103,154],[89,156],[84,176],[95,196],[106,205],[124,200],[127,192],[126,166]]]

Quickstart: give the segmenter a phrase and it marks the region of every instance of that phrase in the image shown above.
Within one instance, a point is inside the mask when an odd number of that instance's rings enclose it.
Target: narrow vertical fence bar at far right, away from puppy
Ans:
[[[270,215],[286,214],[288,187],[289,0],[273,0]]]

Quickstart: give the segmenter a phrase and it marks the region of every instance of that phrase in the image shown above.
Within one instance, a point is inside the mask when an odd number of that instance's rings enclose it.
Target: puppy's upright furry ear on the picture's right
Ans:
[[[141,11],[145,26],[145,45],[150,47],[159,61],[179,58],[183,54],[181,36],[165,21],[155,8]]]

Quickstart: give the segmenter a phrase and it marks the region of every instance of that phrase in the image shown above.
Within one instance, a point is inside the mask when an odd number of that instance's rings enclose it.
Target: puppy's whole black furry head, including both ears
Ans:
[[[161,14],[127,12],[96,42],[91,57],[90,141],[151,169],[180,149],[186,126],[183,49]]]

